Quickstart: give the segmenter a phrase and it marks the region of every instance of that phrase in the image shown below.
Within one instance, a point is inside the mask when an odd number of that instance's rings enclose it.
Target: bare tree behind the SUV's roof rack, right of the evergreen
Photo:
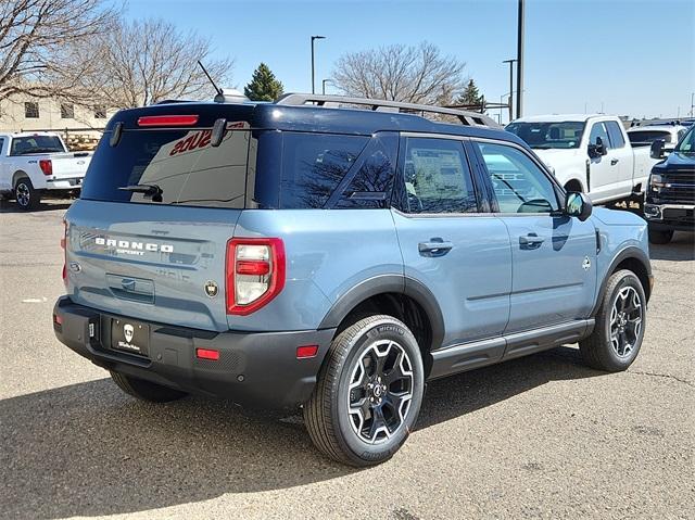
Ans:
[[[446,104],[463,89],[466,64],[426,41],[343,54],[333,80],[349,96]]]

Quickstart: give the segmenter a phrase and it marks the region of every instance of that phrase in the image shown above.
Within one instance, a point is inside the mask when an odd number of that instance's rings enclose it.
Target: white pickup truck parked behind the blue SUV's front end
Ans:
[[[595,204],[642,201],[652,166],[649,147],[633,147],[618,117],[544,115],[516,119],[506,129],[523,139],[568,191]]]

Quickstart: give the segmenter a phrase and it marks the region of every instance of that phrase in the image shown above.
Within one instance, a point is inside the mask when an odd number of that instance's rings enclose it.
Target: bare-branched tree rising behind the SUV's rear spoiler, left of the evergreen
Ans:
[[[74,61],[79,66],[61,71],[54,83],[71,85],[70,99],[81,105],[124,109],[166,99],[212,98],[214,89],[198,60],[218,86],[229,80],[233,64],[213,59],[212,52],[207,39],[167,22],[122,22],[93,45],[76,46]]]

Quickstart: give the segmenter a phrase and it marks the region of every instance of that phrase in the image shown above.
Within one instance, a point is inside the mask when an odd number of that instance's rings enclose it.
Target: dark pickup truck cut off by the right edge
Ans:
[[[664,141],[652,144],[652,156],[664,157]],[[655,244],[670,242],[673,231],[695,231],[695,126],[652,168],[644,216]]]

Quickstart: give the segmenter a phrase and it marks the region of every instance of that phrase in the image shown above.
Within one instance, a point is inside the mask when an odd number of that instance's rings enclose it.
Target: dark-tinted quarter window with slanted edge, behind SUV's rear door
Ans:
[[[368,141],[363,136],[285,132],[280,207],[325,207]]]

